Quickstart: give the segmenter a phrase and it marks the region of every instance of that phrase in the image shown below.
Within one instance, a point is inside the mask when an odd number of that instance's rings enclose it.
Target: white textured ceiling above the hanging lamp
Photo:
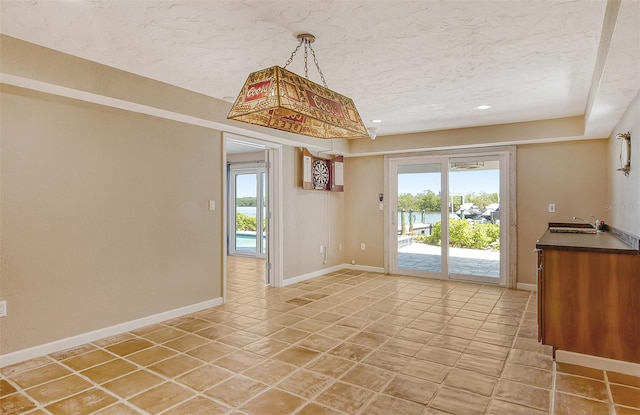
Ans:
[[[220,99],[310,32],[328,86],[379,135],[585,112],[608,134],[640,88],[639,9],[622,2],[604,46],[600,0],[2,0],[1,32]],[[289,68],[304,73],[302,53]]]

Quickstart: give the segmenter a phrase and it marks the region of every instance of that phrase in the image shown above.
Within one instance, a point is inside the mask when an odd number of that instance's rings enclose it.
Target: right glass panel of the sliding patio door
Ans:
[[[500,282],[500,159],[450,159],[448,182],[451,278]]]

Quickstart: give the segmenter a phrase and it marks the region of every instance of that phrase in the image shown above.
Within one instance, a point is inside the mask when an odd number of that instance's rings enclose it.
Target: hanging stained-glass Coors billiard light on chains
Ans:
[[[249,74],[228,119],[316,138],[368,138],[353,101],[327,87],[311,48],[315,36],[297,36],[298,46],[284,67],[272,66]],[[304,78],[286,70],[304,45]],[[309,80],[308,50],[324,86]]]

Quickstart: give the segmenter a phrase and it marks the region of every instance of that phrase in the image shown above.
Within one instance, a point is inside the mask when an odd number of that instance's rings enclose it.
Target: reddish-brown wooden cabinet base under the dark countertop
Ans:
[[[538,250],[538,337],[556,349],[640,363],[640,256]]]

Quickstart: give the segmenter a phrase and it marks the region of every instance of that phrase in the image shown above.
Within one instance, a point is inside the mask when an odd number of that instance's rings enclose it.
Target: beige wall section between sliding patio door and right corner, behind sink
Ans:
[[[533,252],[548,222],[573,216],[609,220],[605,208],[607,141],[586,140],[517,148],[518,282],[536,283]],[[556,212],[549,213],[549,203]]]

